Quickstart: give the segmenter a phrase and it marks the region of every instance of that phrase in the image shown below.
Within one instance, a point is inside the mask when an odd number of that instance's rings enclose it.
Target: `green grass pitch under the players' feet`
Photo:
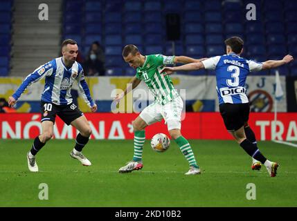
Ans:
[[[0,206],[297,206],[297,148],[260,142],[280,164],[277,177],[251,171],[251,159],[233,141],[190,140],[203,173],[186,176],[188,163],[172,142],[155,153],[145,142],[141,171],[120,174],[133,156],[133,141],[94,141],[84,149],[92,166],[69,156],[74,140],[51,140],[37,155],[39,173],[30,173],[26,152],[33,140],[0,141]],[[39,184],[48,200],[39,200]],[[255,184],[255,200],[246,189]],[[248,194],[249,195],[249,194]]]

